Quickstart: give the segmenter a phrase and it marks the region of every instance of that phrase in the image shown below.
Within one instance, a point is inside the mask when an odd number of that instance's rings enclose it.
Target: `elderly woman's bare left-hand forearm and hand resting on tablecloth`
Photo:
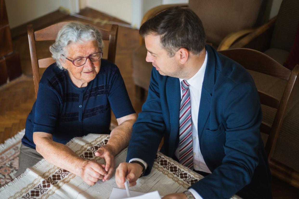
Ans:
[[[50,133],[34,132],[33,142],[36,144],[36,151],[46,161],[80,176],[88,185],[94,185],[107,175],[103,169],[105,165],[95,160],[83,160],[64,144],[54,142]]]

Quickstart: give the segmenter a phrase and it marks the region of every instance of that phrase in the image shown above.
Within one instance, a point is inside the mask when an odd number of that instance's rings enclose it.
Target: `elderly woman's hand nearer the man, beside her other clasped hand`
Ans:
[[[94,153],[94,155],[104,158],[106,166],[104,165],[103,168],[107,172],[107,175],[105,175],[105,177],[103,178],[103,182],[109,180],[112,177],[115,167],[115,152],[113,150],[113,147],[109,144],[101,146],[100,149],[98,149],[97,152]]]

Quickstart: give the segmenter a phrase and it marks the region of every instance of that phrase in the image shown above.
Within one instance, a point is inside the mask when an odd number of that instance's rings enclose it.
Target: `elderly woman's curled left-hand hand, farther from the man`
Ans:
[[[97,163],[95,160],[83,160],[76,166],[77,174],[88,185],[94,185],[99,179],[103,179],[107,172],[105,165]]]

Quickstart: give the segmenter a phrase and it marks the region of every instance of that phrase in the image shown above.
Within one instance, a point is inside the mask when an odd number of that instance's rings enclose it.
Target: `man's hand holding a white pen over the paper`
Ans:
[[[115,172],[115,182],[118,188],[123,189],[125,187],[125,178],[129,181],[129,186],[135,186],[137,179],[142,174],[142,166],[138,163],[120,163]]]

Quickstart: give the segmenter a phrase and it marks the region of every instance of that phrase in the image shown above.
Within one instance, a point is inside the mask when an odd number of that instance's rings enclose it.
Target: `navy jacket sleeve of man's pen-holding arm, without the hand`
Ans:
[[[161,75],[153,67],[147,100],[133,125],[126,162],[139,158],[148,164],[145,175],[149,174],[164,135],[165,123],[161,108],[158,78]]]

